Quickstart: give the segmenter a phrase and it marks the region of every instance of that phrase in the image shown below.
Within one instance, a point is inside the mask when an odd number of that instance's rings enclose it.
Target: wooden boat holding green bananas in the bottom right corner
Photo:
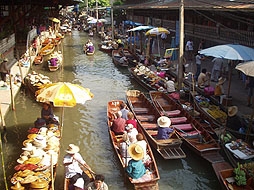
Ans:
[[[234,169],[228,169],[228,170],[222,170],[220,172],[220,179],[222,182],[222,185],[224,187],[224,189],[226,190],[253,190],[254,189],[254,184],[253,181],[248,182],[247,181],[247,185],[244,186],[237,186],[236,184],[229,184],[227,179],[234,177]]]

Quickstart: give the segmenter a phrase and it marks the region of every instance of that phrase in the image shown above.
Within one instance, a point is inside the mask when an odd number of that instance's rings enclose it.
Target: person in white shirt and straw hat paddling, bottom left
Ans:
[[[84,165],[85,168],[91,168],[83,160],[82,156],[78,153],[79,147],[74,144],[69,144],[66,150],[67,154],[64,156],[63,164],[65,167],[65,177],[70,179],[70,184],[74,185],[76,189],[84,189],[90,182],[88,175],[82,171],[79,164]]]

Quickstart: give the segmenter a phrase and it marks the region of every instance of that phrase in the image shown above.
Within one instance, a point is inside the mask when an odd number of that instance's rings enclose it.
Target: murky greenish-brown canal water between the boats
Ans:
[[[63,189],[64,168],[62,165],[68,144],[80,146],[80,153],[96,173],[106,176],[106,183],[111,190],[130,189],[124,184],[120,164],[113,152],[106,123],[106,106],[110,100],[125,100],[128,89],[140,89],[129,76],[127,70],[114,66],[109,55],[97,48],[99,39],[93,38],[97,51],[88,57],[83,53],[83,44],[88,40],[87,33],[74,31],[67,36],[62,47],[64,66],[62,70],[50,73],[42,66],[33,70],[45,74],[53,82],[68,81],[90,88],[94,94],[91,101],[74,108],[65,108],[64,130],[61,141],[61,155],[56,175],[56,190]],[[142,90],[142,89],[140,89]],[[19,93],[15,99],[16,112],[10,111],[6,118],[7,132],[4,134],[4,158],[8,180],[14,173],[16,160],[21,153],[22,142],[27,130],[40,116],[40,105],[25,93]],[[60,109],[54,110],[60,116]],[[186,159],[166,161],[155,151],[154,155],[160,173],[159,187],[164,190],[209,190],[220,189],[212,167],[195,153],[184,148]],[[0,169],[0,189],[4,189],[2,168]]]

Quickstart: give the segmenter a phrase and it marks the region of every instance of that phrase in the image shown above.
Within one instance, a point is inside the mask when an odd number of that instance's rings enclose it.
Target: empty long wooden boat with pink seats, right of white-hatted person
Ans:
[[[172,126],[194,152],[210,162],[224,160],[218,153],[219,144],[182,106],[162,92],[150,92],[150,96],[158,113],[170,118]]]

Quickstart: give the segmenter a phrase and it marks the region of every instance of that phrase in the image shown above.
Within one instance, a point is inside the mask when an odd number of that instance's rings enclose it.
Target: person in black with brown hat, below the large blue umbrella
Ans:
[[[228,108],[228,117],[226,127],[245,134],[245,130],[240,121],[240,118],[236,115],[238,112],[237,106],[231,106]]]

